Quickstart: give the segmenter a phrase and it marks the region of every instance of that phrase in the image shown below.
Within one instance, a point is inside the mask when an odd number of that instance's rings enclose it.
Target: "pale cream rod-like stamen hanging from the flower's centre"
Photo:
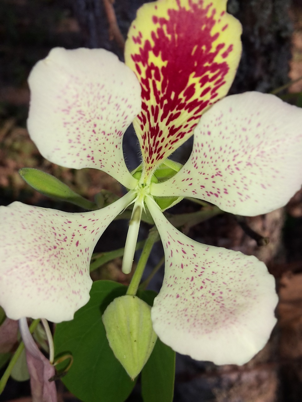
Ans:
[[[128,274],[131,272],[135,247],[137,244],[137,237],[139,235],[139,224],[141,223],[142,211],[143,200],[141,199],[141,197],[137,197],[134,203],[126,238],[125,252],[122,262],[122,271],[124,274]]]

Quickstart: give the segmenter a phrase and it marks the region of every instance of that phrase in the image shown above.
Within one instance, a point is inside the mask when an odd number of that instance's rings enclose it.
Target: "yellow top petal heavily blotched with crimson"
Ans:
[[[192,135],[232,84],[242,29],[225,10],[226,0],[160,0],[144,4],[130,27],[125,62],[142,87],[133,124],[146,173]]]

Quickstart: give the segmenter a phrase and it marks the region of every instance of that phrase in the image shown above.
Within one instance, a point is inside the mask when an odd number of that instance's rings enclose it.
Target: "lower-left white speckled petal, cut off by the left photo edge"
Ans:
[[[9,318],[71,320],[89,300],[93,248],[130,193],[99,211],[0,207],[0,305]]]

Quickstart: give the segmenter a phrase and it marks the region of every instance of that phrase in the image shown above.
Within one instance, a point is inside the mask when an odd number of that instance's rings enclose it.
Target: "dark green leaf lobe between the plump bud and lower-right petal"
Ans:
[[[157,293],[139,291],[139,297],[150,306]],[[141,373],[144,402],[172,402],[175,379],[175,352],[157,338],[155,347]]]

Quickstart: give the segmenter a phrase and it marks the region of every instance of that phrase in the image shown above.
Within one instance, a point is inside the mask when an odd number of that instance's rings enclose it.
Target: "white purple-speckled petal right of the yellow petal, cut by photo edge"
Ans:
[[[203,115],[188,162],[172,179],[153,184],[151,194],[196,197],[253,216],[285,205],[301,183],[301,108],[246,92]]]

